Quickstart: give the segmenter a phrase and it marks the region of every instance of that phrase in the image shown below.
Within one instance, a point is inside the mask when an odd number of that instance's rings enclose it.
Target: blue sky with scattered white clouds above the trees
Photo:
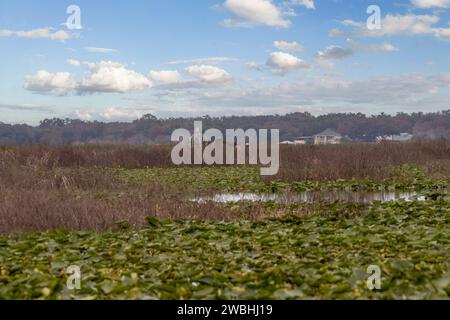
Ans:
[[[450,0],[2,0],[0,122],[438,111],[449,56]]]

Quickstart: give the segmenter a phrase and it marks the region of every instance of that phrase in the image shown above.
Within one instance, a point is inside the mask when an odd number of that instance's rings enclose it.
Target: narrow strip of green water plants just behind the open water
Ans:
[[[255,166],[114,169],[114,172],[132,184],[158,183],[174,188],[182,186],[183,190],[192,192],[422,191],[449,190],[450,186],[450,181],[433,180],[417,166],[395,167],[391,177],[382,181],[265,180]]]

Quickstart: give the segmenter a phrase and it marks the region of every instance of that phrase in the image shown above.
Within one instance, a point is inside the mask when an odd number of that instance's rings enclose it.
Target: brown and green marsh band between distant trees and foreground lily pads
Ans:
[[[447,151],[446,141],[288,146],[281,153],[279,175],[263,179],[257,166],[172,166],[170,146],[2,147],[0,232],[101,232],[124,221],[138,229],[149,216],[255,221],[292,213],[356,215],[361,210],[341,204],[270,209],[265,203],[230,207],[192,199],[219,192],[379,190],[391,184],[441,199],[450,180]]]

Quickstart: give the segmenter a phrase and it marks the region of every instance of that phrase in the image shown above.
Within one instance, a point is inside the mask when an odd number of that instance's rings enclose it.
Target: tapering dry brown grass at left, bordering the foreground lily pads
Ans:
[[[107,170],[0,163],[0,233],[104,231],[146,217],[225,219],[225,210],[186,199],[176,186],[129,185]]]

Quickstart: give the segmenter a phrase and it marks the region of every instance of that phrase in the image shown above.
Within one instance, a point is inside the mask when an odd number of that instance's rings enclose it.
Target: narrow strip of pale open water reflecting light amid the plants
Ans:
[[[402,192],[345,192],[345,191],[317,191],[303,193],[283,193],[283,194],[257,194],[257,193],[225,193],[217,194],[210,197],[199,197],[194,199],[195,202],[205,203],[208,201],[217,203],[230,203],[238,201],[251,202],[279,202],[279,203],[295,203],[295,202],[334,202],[348,201],[359,203],[371,203],[374,201],[388,202],[396,200],[419,200],[425,201],[424,196],[418,196],[416,193]]]

